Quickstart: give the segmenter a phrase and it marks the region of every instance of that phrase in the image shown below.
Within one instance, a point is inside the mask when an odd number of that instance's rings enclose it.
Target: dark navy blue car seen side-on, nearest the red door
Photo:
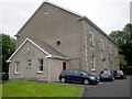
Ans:
[[[80,69],[65,69],[61,73],[62,82],[80,82],[80,84],[98,84],[99,79],[96,76],[89,75]]]

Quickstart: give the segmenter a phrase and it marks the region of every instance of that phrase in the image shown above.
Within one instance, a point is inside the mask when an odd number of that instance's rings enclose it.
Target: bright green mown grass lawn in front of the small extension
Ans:
[[[2,85],[3,97],[79,97],[81,91],[81,87],[19,80]]]

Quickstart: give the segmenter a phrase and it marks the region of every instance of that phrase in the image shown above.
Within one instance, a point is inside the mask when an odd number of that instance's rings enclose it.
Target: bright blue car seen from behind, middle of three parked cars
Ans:
[[[114,80],[114,76],[111,70],[102,70],[99,75],[100,80]]]

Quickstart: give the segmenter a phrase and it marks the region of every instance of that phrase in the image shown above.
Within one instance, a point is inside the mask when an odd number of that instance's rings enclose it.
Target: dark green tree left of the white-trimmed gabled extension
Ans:
[[[7,61],[15,51],[15,40],[13,37],[10,37],[10,35],[0,33],[0,45],[2,47],[0,48],[0,52],[2,52],[2,54],[0,54],[0,58],[2,58],[2,72],[8,73],[9,64]]]

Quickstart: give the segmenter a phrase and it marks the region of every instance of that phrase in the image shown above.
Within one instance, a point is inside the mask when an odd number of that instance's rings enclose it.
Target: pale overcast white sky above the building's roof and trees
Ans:
[[[0,33],[16,34],[45,0],[0,0]],[[102,31],[122,30],[130,22],[132,0],[48,0],[86,15]]]

